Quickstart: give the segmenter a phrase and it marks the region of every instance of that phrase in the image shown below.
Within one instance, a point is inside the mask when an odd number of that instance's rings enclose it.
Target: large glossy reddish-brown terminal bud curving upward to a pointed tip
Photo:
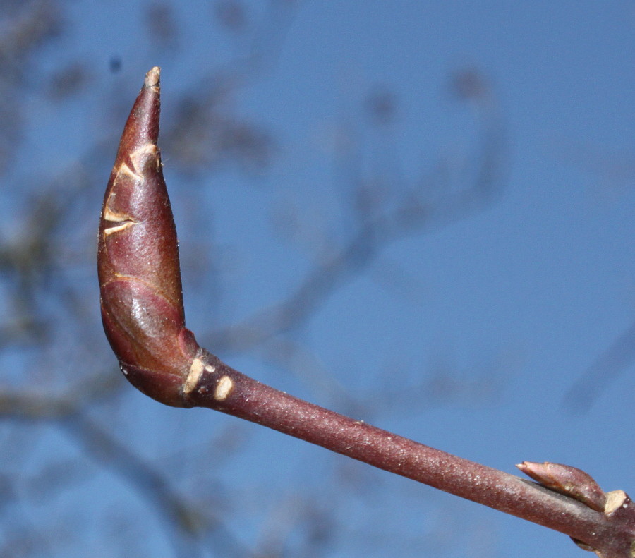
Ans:
[[[123,129],[99,222],[102,320],[121,370],[141,392],[183,406],[199,350],[185,327],[176,227],[163,178],[159,68],[152,68]]]

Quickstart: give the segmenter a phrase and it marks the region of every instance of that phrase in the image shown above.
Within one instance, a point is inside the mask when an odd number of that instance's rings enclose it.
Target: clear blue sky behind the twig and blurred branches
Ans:
[[[162,66],[168,128],[176,95],[196,83],[200,68],[219,68],[250,49],[248,40],[231,41],[214,28],[209,3],[172,4],[182,30],[178,49],[135,37],[144,3],[80,1],[68,11],[66,54],[52,49],[41,63],[81,52],[102,68],[99,83],[124,107],[145,71]],[[246,2],[256,22],[265,20],[267,6]],[[416,392],[378,411],[362,407],[368,416],[359,418],[510,473],[520,461],[556,461],[583,468],[605,490],[634,492],[635,365],[598,392],[585,413],[563,405],[584,370],[635,319],[634,25],[635,7],[627,1],[299,4],[265,33],[266,63],[229,103],[234,114],[271,131],[272,165],[247,173],[230,165],[187,178],[171,167],[171,146],[162,144],[183,262],[198,257],[194,241],[206,227],[220,258],[213,281],[183,266],[188,325],[195,332],[218,329],[284,298],[315,262],[315,245],[326,250],[347,238],[354,224],[342,203],[351,183],[340,160],[341,134],[352,138],[358,175],[389,185],[387,200],[429,179],[440,162],[452,188],[461,188],[469,176],[461,166],[479,146],[479,116],[456,102],[447,85],[456,71],[476,69],[506,126],[500,198],[458,222],[385,246],[369,269],[283,338],[302,348],[297,374],[272,364],[265,350],[219,356],[341,411],[332,392],[338,384],[364,400],[387,387],[408,392],[449,371],[454,396],[435,400]],[[121,59],[120,74],[107,71],[112,56]],[[396,99],[395,121],[383,132],[363,109],[375,87]],[[123,126],[123,119],[104,121],[98,100],[89,96],[79,109],[63,109],[65,139],[52,142],[51,129],[31,140],[42,144],[42,162],[81,151],[96,123],[103,130]],[[49,114],[51,126],[56,118]],[[114,158],[115,146],[110,150]],[[304,237],[281,241],[271,233],[272,214],[287,208]],[[134,443],[148,459],[161,459],[162,443],[181,429],[191,439],[198,429],[213,437],[235,420],[210,411],[184,416],[132,392],[118,412],[123,423],[126,413],[141,417],[143,427],[130,436],[138,436]],[[143,447],[155,430],[159,441]],[[258,540],[272,510],[284,510],[284,497],[306,491],[318,500],[322,492],[331,495],[346,534],[344,545],[325,556],[386,556],[391,540],[403,557],[581,556],[564,535],[343,458],[333,462],[322,449],[262,428],[245,432],[249,447],[217,474],[243,497],[244,509],[234,504],[239,521],[232,528],[247,543]],[[347,474],[376,488],[364,495],[349,486],[339,494],[333,486]]]

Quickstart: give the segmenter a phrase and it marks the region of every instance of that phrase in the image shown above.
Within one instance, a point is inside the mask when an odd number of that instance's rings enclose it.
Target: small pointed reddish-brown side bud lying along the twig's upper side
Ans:
[[[605,492],[588,473],[569,465],[548,461],[523,461],[516,467],[541,485],[583,502],[595,511],[604,511]]]

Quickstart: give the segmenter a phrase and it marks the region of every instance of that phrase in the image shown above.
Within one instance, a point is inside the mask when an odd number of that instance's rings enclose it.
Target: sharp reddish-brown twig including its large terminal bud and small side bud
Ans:
[[[579,469],[524,462],[538,483],[296,399],[229,368],[185,327],[176,230],[163,181],[159,68],[121,138],[99,226],[104,329],[121,370],[164,404],[207,407],[566,533],[603,558],[634,558],[635,511]]]

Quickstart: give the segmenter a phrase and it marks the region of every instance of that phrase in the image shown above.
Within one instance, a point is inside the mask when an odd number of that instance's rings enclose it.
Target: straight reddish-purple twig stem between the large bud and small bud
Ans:
[[[617,530],[609,516],[575,499],[296,399],[229,368],[209,353],[200,358],[200,363],[184,390],[188,406],[212,408],[250,420],[539,523],[596,549],[606,549],[602,554],[605,558],[632,558],[624,550],[625,539],[632,538],[632,533]]]

